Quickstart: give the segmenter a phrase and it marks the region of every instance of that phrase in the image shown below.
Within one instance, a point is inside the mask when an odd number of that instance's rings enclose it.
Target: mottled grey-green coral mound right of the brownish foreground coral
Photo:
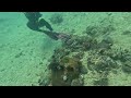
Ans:
[[[90,70],[95,70],[100,73],[104,71],[110,71],[117,66],[117,63],[109,57],[96,54],[88,57],[87,65]]]

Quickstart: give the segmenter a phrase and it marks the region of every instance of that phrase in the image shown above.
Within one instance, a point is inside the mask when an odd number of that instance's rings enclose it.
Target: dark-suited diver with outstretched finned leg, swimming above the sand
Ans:
[[[24,15],[28,20],[28,22],[26,24],[27,27],[33,30],[45,33],[51,39],[55,39],[55,40],[64,39],[64,38],[69,37],[66,34],[52,32],[53,29],[52,29],[51,25],[44,19],[40,19],[41,14],[39,12],[24,12]],[[43,26],[46,26],[49,30],[40,29],[40,27],[43,27]]]

